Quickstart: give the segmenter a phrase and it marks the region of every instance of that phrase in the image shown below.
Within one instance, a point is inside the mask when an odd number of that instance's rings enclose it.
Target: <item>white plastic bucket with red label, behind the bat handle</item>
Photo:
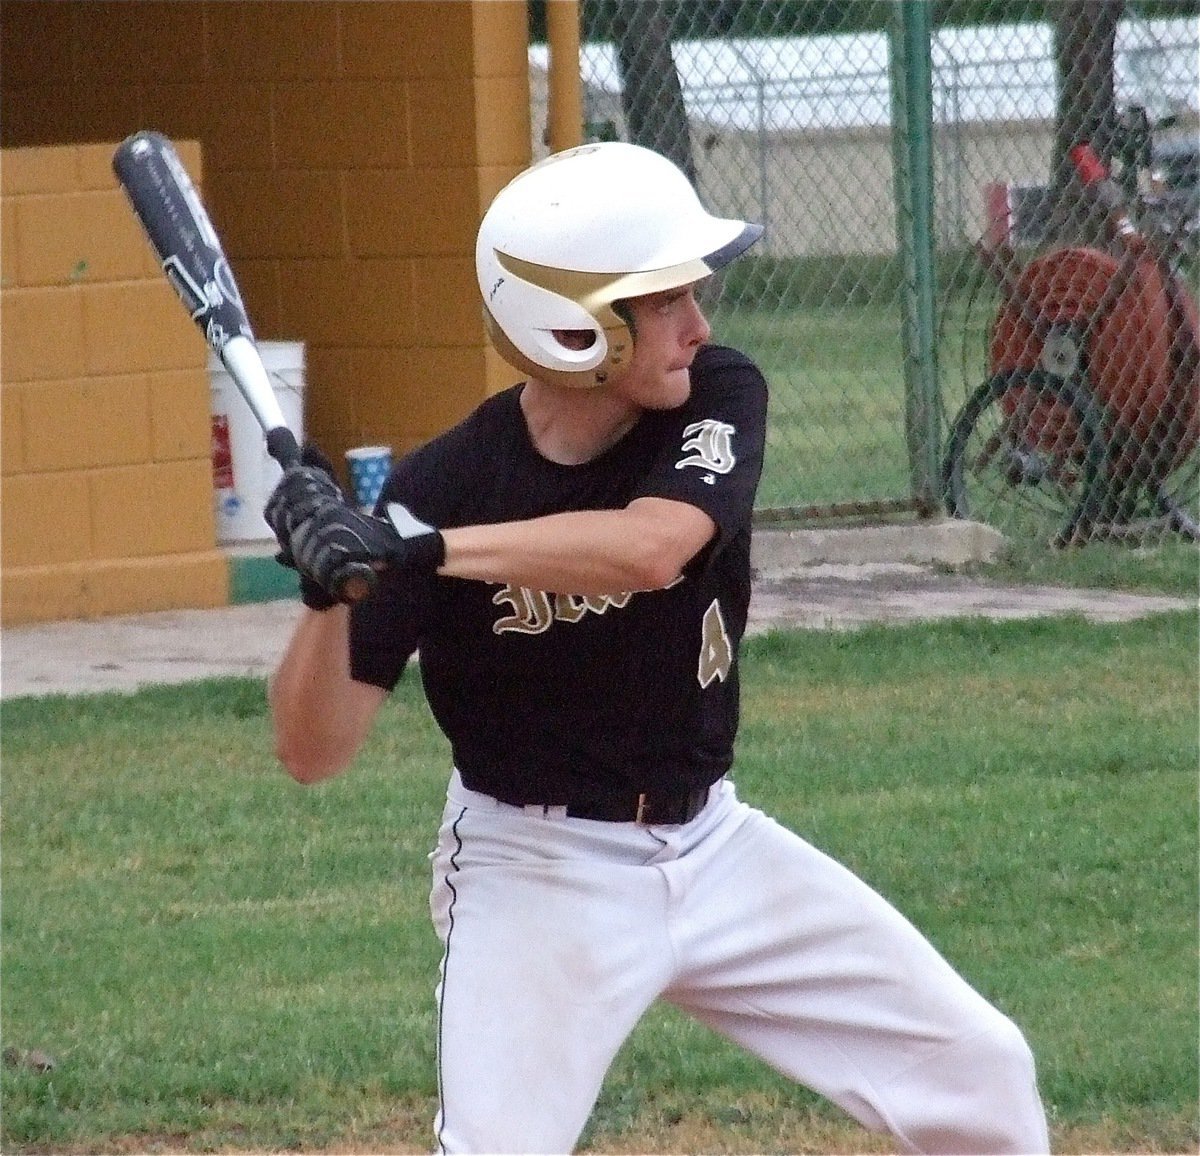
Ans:
[[[259,341],[283,418],[304,441],[304,342]],[[282,471],[266,453],[263,431],[221,359],[209,354],[212,389],[212,501],[222,545],[272,540],[263,517]]]

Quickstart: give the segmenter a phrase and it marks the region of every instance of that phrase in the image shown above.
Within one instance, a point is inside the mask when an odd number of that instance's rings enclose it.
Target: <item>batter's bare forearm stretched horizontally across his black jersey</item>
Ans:
[[[674,505],[677,503],[672,503]],[[712,523],[704,519],[710,534]],[[443,531],[443,575],[571,594],[661,589],[707,540],[703,529],[625,510],[580,510]]]

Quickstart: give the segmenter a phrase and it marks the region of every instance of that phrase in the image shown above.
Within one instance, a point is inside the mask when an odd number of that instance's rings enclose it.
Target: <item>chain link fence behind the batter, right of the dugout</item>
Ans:
[[[584,0],[587,136],[766,226],[707,301],[772,385],[762,517],[1195,532],[1200,18],[1163,7]]]

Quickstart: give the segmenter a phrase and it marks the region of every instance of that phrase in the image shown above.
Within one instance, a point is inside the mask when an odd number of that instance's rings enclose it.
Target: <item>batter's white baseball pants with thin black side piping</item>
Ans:
[[[431,910],[442,1151],[570,1151],[656,999],[905,1150],[1049,1151],[1012,1020],[728,781],[690,823],[638,827],[509,807],[455,775]]]

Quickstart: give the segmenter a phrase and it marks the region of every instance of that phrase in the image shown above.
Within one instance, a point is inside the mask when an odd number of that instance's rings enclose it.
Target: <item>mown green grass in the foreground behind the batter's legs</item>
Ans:
[[[748,645],[743,796],[1021,1023],[1058,1150],[1200,1142],[1196,628]],[[446,750],[415,679],[317,789],[274,765],[252,679],[7,701],[2,727],[4,1043],[58,1060],[4,1068],[5,1151],[427,1150]],[[586,1140],[832,1150],[804,1136],[839,1119],[655,1010]]]

